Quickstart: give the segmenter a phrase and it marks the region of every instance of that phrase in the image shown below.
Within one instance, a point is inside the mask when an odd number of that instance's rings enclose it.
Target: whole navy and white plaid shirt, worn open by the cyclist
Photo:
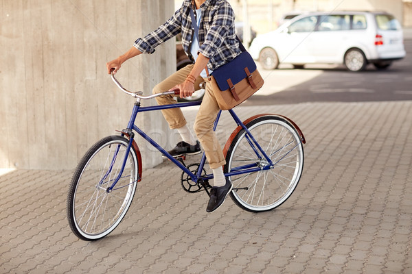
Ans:
[[[194,36],[190,8],[194,9],[192,0],[184,0],[172,18],[144,38],[137,39],[134,46],[142,53],[153,53],[155,47],[181,33],[183,49],[194,61],[190,53]],[[241,53],[235,33],[235,14],[227,0],[206,0],[201,10],[199,52],[209,58],[207,67],[214,71]]]

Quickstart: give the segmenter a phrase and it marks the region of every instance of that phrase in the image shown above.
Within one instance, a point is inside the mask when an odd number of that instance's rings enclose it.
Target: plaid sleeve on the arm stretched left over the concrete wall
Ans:
[[[169,40],[181,32],[181,9],[176,10],[174,15],[166,21],[163,25],[155,29],[150,34],[139,38],[133,45],[142,53],[154,53],[155,47],[162,42]]]

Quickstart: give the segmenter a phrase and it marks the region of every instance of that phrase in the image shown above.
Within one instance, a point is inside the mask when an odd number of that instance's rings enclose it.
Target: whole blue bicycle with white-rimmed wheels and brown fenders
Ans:
[[[205,153],[200,163],[186,166],[184,155],[173,158],[135,125],[139,112],[184,108],[200,105],[201,101],[141,107],[142,99],[175,93],[143,96],[141,91],[123,88],[115,75],[111,77],[120,90],[137,101],[126,129],[96,142],[80,160],[71,180],[67,218],[73,233],[82,240],[98,240],[113,232],[130,207],[141,181],[142,159],[135,132],[183,171],[181,184],[187,192],[205,190],[209,195],[208,182],[213,179],[204,169]],[[228,111],[238,125],[223,149],[227,162],[224,173],[233,184],[231,199],[250,212],[273,210],[292,195],[299,182],[304,167],[304,135],[282,115],[258,114],[242,122],[233,110]]]

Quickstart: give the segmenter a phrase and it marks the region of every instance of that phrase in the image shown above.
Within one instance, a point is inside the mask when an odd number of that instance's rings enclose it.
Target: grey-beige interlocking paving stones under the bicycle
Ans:
[[[12,171],[0,176],[0,273],[412,273],[412,101],[237,110],[284,114],[306,136],[304,174],[277,210],[227,199],[207,214],[166,161],[143,171],[119,227],[85,242],[66,219],[72,171]]]

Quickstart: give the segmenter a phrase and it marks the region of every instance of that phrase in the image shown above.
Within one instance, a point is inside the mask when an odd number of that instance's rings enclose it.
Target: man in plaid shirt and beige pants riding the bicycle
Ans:
[[[190,10],[193,10],[198,25],[198,39],[194,35]],[[181,8],[163,25],[150,32],[144,38],[139,38],[123,55],[107,62],[108,73],[114,69],[116,73],[128,59],[141,53],[153,53],[155,47],[162,42],[182,34],[182,45],[193,64],[176,71],[163,82],[153,88],[153,93],[165,90],[180,90],[180,97],[192,96],[200,89],[201,82],[209,82],[205,66],[211,73],[219,66],[226,64],[241,53],[235,33],[235,14],[227,0],[184,0]],[[172,95],[156,97],[159,105],[177,103]],[[194,132],[190,129],[180,108],[162,110],[171,129],[177,129],[182,141],[174,149],[168,151],[174,157],[201,153],[203,147],[209,166],[214,174],[214,183],[207,204],[207,212],[219,208],[232,189],[230,180],[223,174],[222,166],[226,164],[222,149],[213,131],[214,121],[219,112],[219,106],[214,97],[211,85],[206,85],[205,96],[196,115]]]

